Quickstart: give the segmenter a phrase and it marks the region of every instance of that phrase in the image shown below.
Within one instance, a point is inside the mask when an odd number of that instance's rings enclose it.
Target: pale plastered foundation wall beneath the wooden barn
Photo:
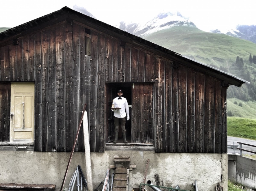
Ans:
[[[227,191],[227,154],[155,153],[154,151],[91,152],[93,189],[105,179],[106,170],[114,165],[114,156],[130,156],[132,187],[143,182],[146,160],[150,159],[147,180],[154,185],[194,190],[214,191],[218,182]],[[59,190],[70,157],[68,152],[0,151],[0,183],[56,184]],[[76,167],[81,165],[84,174],[83,152],[74,152],[64,187],[68,188]],[[130,173],[131,174],[131,173]],[[150,189],[149,189],[150,190]]]

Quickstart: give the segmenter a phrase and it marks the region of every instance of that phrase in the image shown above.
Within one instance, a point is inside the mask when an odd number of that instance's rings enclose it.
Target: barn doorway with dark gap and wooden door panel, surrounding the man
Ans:
[[[153,83],[106,83],[106,142],[115,139],[114,112],[112,100],[117,91],[123,91],[127,99],[130,120],[126,120],[126,138],[128,143],[152,144],[154,141],[153,123]],[[119,127],[118,143],[123,143],[122,130]]]

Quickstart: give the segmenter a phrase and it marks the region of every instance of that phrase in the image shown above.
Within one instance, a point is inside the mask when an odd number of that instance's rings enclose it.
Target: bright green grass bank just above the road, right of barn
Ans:
[[[227,117],[227,135],[256,140],[256,120]]]

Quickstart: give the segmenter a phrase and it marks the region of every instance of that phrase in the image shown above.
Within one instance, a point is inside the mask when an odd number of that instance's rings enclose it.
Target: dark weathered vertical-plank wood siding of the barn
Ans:
[[[154,121],[145,122],[143,133],[154,138],[142,142],[154,141],[156,152],[227,152],[226,87],[218,79],[78,22],[18,40],[19,45],[0,48],[1,87],[3,82],[35,82],[35,151],[70,151],[84,103],[91,151],[104,151],[105,83],[132,82],[153,83],[153,106],[145,107],[152,109]],[[9,93],[1,88],[0,141],[9,136],[8,102],[2,101]],[[81,131],[75,150],[83,149]]]

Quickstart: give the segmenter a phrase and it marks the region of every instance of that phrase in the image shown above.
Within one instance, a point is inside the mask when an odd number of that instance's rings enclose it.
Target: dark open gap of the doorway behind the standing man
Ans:
[[[114,112],[111,111],[112,100],[117,97],[117,91],[121,89],[123,91],[123,97],[126,98],[129,105],[130,120],[125,123],[126,138],[128,143],[131,143],[131,115],[132,115],[132,84],[133,83],[106,83],[106,142],[113,142],[115,139],[115,126],[114,126]],[[123,143],[122,129],[119,128],[118,143]]]

